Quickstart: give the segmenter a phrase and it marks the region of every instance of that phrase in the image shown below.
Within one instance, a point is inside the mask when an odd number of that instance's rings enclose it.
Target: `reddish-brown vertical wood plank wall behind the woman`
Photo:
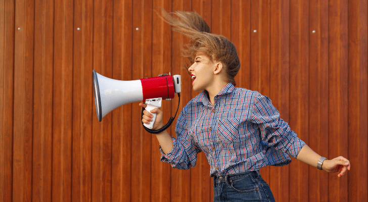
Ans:
[[[180,109],[198,93],[188,39],[157,7],[201,14],[237,46],[237,87],[269,96],[318,154],[349,158],[341,178],[296,160],[261,169],[277,201],[367,201],[367,0],[0,0],[1,201],[213,200],[205,156],[187,171],[160,162],[138,103],[96,116],[94,69],[180,74]],[[164,121],[176,106],[164,102]]]

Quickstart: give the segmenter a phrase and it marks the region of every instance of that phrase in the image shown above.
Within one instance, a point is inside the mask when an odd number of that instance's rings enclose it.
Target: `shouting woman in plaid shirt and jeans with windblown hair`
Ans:
[[[240,61],[231,41],[210,33],[196,13],[174,15],[176,18],[163,11],[163,19],[174,31],[190,37],[184,55],[193,61],[188,68],[193,90],[202,92],[182,109],[176,138],[167,131],[156,134],[161,161],[189,169],[204,151],[211,166],[214,201],[274,201],[259,169],[287,165],[291,162],[288,155],[318,169],[339,172],[339,177],[350,170],[347,159],[327,160],[300,140],[267,96],[235,87]],[[154,109],[151,113],[157,113],[153,129],[163,127],[163,112]],[[152,121],[151,113],[144,111],[144,123]]]

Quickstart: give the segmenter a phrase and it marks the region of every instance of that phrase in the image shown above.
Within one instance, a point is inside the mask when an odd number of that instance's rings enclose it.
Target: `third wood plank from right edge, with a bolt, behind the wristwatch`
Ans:
[[[325,73],[327,62],[324,59],[326,57],[321,57],[328,50],[324,42],[328,30],[323,24],[328,12],[322,9],[323,4],[323,1],[310,2],[310,5],[318,5],[318,7],[310,7],[309,14],[309,146],[321,156],[326,156],[326,146],[320,143],[327,142],[326,138],[328,138],[328,128],[325,127],[328,112],[326,112],[327,108],[323,107],[327,106],[328,99],[326,95],[328,74]],[[309,169],[309,176],[315,176],[309,177],[309,184],[315,184],[315,186],[309,186],[309,200],[326,201],[327,194],[323,193],[327,192],[325,189],[328,186],[327,175],[312,168]]]

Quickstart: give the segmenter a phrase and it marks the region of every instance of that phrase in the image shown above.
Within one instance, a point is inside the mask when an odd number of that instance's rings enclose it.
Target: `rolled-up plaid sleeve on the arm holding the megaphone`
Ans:
[[[181,111],[175,127],[176,138],[172,137],[173,148],[164,154],[160,146],[161,161],[171,164],[173,168],[188,170],[197,163],[197,154],[201,152],[194,140],[190,137],[185,109]]]

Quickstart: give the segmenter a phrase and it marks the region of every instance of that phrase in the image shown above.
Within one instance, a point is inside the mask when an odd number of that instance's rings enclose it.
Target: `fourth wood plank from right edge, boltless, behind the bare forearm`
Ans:
[[[290,126],[308,144],[308,12],[307,2],[290,2]],[[302,174],[300,174],[302,173]],[[299,161],[290,165],[290,200],[308,200],[308,166]],[[300,197],[303,196],[303,197]]]

